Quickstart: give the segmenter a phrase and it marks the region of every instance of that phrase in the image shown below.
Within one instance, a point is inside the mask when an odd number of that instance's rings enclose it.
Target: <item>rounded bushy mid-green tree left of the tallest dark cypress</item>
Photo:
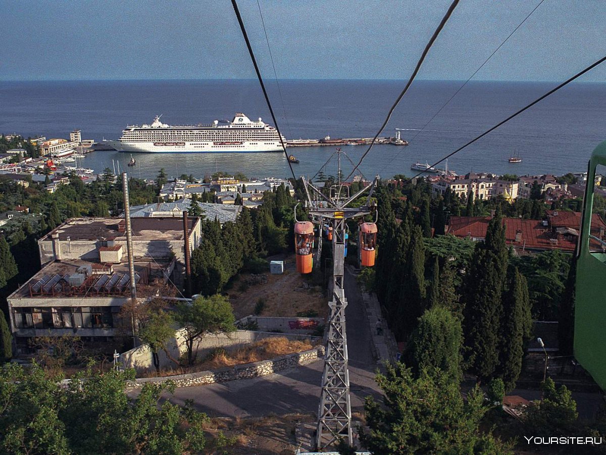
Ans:
[[[441,371],[451,380],[460,382],[463,331],[461,321],[448,309],[435,306],[419,318],[419,324],[410,339],[408,364],[416,374]]]

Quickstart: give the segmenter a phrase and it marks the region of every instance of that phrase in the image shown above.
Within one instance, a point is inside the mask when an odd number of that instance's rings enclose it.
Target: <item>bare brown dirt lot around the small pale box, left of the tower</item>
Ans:
[[[271,275],[267,272],[267,282],[247,285],[249,274],[242,274],[228,291],[236,318],[255,314],[255,307],[262,298],[265,303],[261,316],[296,316],[301,311],[316,311],[319,317],[328,314],[328,300],[319,286],[311,286],[305,275],[297,273],[295,255],[284,261],[284,274]]]

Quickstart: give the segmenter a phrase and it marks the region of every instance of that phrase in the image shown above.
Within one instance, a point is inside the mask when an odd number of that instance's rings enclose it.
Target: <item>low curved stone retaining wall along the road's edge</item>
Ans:
[[[295,352],[295,354],[288,354],[287,356],[276,357],[270,360],[261,360],[261,362],[245,363],[244,365],[179,374],[176,376],[136,379],[128,383],[127,390],[140,389],[147,383],[156,384],[167,381],[172,381],[178,387],[189,387],[237,379],[249,379],[251,377],[265,376],[293,366],[307,365],[307,363],[314,362],[323,356],[324,346],[318,346],[308,351]]]

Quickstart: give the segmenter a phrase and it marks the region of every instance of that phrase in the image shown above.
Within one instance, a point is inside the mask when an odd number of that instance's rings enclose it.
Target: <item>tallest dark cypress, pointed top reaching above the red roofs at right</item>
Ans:
[[[476,244],[463,287],[468,365],[480,380],[490,379],[499,365],[499,326],[507,261],[505,227],[497,208],[488,224],[486,240]]]

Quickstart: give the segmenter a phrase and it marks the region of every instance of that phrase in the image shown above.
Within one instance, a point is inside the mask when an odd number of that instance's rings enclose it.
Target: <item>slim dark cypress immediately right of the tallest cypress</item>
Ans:
[[[499,376],[503,379],[505,389],[511,390],[522,371],[524,332],[528,326],[525,320],[528,317],[528,284],[516,267],[508,269],[502,302]]]

